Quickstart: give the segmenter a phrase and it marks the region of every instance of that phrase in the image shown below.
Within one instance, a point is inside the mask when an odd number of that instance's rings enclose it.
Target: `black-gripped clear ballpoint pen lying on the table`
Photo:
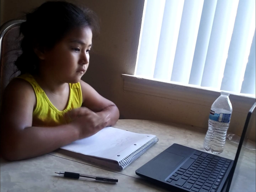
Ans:
[[[72,173],[72,172],[55,172],[55,173],[62,175],[64,177],[75,178],[75,179],[79,179],[79,177],[86,177],[86,178],[95,179],[96,181],[114,182],[114,183],[118,182],[118,179],[114,179],[110,177],[98,177],[98,176],[84,175],[84,174]]]

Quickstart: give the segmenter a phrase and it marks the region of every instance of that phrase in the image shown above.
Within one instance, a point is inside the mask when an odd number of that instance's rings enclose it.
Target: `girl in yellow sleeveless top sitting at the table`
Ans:
[[[1,155],[31,158],[91,136],[116,123],[116,105],[81,80],[89,65],[90,11],[46,2],[20,26],[21,75],[7,86],[1,117]]]

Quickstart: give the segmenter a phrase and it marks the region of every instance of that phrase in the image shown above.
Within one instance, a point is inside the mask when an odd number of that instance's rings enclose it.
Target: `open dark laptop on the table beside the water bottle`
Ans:
[[[135,173],[171,191],[249,191],[244,188],[237,189],[239,186],[244,187],[246,182],[246,177],[239,178],[239,168],[244,169],[241,164],[243,164],[243,152],[248,140],[247,127],[252,122],[250,118],[255,104],[248,112],[234,160],[174,143],[138,168]],[[254,167],[249,168],[248,171],[251,171],[248,173],[249,177],[255,177],[255,163]],[[254,183],[250,183],[252,185],[250,190],[255,191],[255,179],[252,181]]]

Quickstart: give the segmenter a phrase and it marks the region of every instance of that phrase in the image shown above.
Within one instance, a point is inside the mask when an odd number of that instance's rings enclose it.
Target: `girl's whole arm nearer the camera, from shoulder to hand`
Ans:
[[[1,155],[14,161],[49,153],[77,139],[95,134],[95,117],[83,116],[55,127],[32,126],[35,93],[30,84],[14,79],[5,89],[1,109]],[[84,126],[84,124],[87,124]]]

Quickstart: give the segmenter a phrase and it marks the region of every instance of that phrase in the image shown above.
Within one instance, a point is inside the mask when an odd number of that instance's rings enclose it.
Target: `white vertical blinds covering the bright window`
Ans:
[[[145,0],[135,75],[255,95],[255,0]]]

